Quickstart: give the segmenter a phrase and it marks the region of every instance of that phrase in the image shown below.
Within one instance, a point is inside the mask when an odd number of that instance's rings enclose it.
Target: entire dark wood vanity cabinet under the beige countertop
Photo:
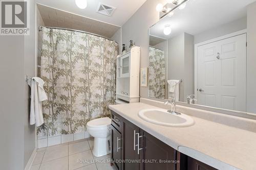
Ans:
[[[112,165],[115,169],[215,170],[209,165],[177,152],[117,113],[112,111],[111,116],[111,159],[114,160]]]

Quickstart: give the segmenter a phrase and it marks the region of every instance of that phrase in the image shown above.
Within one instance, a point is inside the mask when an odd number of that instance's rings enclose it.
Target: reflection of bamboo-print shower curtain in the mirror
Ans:
[[[164,52],[149,47],[148,94],[151,98],[165,98],[165,58]]]

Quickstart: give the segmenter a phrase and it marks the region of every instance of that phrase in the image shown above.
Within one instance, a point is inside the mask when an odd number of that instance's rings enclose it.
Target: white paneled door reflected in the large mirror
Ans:
[[[198,104],[246,111],[246,34],[198,47]]]

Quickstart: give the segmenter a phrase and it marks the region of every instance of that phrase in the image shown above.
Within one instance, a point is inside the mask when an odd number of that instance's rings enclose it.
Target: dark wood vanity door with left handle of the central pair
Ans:
[[[123,160],[139,160],[138,154],[138,134],[139,128],[127,120],[123,122]],[[124,162],[124,170],[138,170],[138,162]]]

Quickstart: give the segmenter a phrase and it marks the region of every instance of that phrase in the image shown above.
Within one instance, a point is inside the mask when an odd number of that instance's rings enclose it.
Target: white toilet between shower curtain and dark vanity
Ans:
[[[87,123],[88,133],[94,137],[93,155],[96,157],[108,155],[111,152],[111,119],[96,118]]]

